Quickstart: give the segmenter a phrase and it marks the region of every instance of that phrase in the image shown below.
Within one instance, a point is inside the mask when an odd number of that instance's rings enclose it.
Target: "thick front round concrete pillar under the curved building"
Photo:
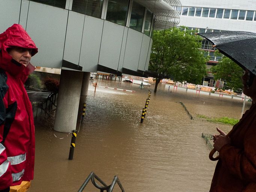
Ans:
[[[54,130],[70,132],[76,128],[83,72],[62,70]]]

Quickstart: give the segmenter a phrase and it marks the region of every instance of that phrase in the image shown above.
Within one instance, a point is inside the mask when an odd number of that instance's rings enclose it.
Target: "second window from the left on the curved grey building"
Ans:
[[[73,0],[72,10],[78,13],[101,17],[103,0]]]

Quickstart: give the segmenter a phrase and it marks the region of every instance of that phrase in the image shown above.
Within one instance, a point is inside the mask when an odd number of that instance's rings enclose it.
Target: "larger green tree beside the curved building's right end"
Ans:
[[[184,28],[154,31],[149,70],[170,75],[174,81],[199,84],[206,75],[206,58],[199,49],[202,38]],[[156,79],[155,93],[160,80]]]

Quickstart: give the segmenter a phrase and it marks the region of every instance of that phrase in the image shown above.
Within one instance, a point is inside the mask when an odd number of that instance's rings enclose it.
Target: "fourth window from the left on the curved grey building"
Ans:
[[[136,31],[142,31],[143,18],[145,14],[145,7],[133,1],[131,8],[130,28]]]

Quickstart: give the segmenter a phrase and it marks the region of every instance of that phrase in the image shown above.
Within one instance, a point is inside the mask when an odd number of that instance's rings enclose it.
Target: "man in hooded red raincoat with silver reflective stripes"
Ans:
[[[24,82],[37,52],[21,25],[0,34],[0,192],[33,179],[35,127]]]

